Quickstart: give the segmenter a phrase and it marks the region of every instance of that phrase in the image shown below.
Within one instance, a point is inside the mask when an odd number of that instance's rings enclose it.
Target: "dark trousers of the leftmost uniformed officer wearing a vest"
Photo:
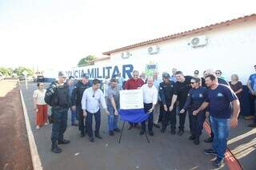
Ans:
[[[51,132],[52,143],[57,142],[57,140],[63,140],[63,135],[66,131],[68,110],[68,108],[51,109],[51,113],[54,116],[54,123]]]

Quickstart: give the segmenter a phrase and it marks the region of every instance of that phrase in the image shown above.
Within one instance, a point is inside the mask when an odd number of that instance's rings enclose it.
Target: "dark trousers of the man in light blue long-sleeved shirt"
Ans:
[[[86,130],[89,137],[93,136],[93,116],[95,118],[95,134],[99,134],[99,128],[101,126],[101,111],[98,110],[97,113],[90,113],[86,110]]]

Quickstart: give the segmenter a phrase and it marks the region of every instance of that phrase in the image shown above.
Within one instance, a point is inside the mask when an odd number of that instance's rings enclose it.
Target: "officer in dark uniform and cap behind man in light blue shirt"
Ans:
[[[73,110],[77,110],[78,113],[78,128],[80,130],[80,136],[83,137],[85,136],[85,121],[86,118],[82,115],[82,94],[83,92],[89,88],[90,82],[89,82],[89,77],[86,75],[86,73],[82,74],[82,80],[78,81],[78,83],[74,86],[74,90],[72,92],[72,97],[71,97],[71,105]]]

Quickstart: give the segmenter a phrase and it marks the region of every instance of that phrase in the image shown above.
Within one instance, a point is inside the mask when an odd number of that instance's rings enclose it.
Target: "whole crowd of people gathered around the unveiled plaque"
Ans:
[[[254,65],[256,70],[256,65]],[[80,136],[89,136],[90,142],[94,142],[94,136],[102,139],[100,135],[101,108],[108,116],[109,135],[114,136],[115,132],[120,132],[118,128],[118,110],[120,109],[120,90],[142,89],[145,113],[150,114],[147,125],[150,136],[154,136],[153,127],[161,128],[161,132],[166,132],[170,125],[170,133],[176,134],[178,115],[178,136],[184,133],[186,114],[189,114],[190,140],[194,144],[199,144],[199,137],[202,134],[203,123],[206,116],[209,116],[211,125],[211,136],[206,142],[213,142],[213,147],[206,149],[206,154],[217,156],[214,165],[222,165],[224,153],[226,152],[227,137],[230,126],[238,125],[238,114],[240,112],[240,102],[242,96],[242,83],[238,81],[238,75],[234,74],[228,83],[222,76],[222,72],[207,69],[203,77],[198,77],[198,70],[194,71],[194,77],[185,76],[182,71],[173,69],[173,75],[162,73],[162,78],[155,72],[153,77],[140,76],[134,70],[132,77],[124,81],[121,74],[110,79],[106,86],[106,94],[100,89],[101,81],[94,79],[90,84],[89,77],[82,75],[82,80],[75,85],[70,80],[65,82],[66,75],[58,73],[58,80],[51,83],[47,91],[42,91],[38,84],[38,92],[34,93],[35,109],[42,113],[38,118],[38,127],[46,123],[44,108],[46,103],[51,106],[51,113],[54,119],[52,127],[52,151],[62,152],[58,144],[68,144],[70,140],[65,140],[63,134],[66,130],[67,113],[71,110],[73,118],[71,125],[77,125]],[[73,81],[73,80],[71,80]],[[70,87],[72,86],[72,87]],[[250,95],[256,95],[256,73],[250,76],[248,81]],[[45,93],[45,102],[42,101],[41,93]],[[41,95],[41,99],[40,98]],[[251,97],[250,96],[250,97]],[[50,98],[50,100],[48,100]],[[252,97],[251,97],[252,98]],[[41,107],[40,105],[46,105]],[[255,105],[254,105],[255,106]],[[42,109],[41,109],[42,108]],[[39,115],[39,114],[38,114]],[[95,129],[93,132],[92,122],[95,119]],[[231,118],[230,118],[231,117]],[[130,122],[128,129],[139,128],[139,134],[146,132],[146,121],[138,123]],[[162,123],[160,126],[159,123]],[[250,125],[255,127],[254,124]]]

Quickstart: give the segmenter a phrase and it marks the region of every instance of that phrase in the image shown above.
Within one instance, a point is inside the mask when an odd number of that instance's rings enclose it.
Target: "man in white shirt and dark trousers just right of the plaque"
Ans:
[[[148,130],[150,136],[154,136],[153,133],[153,111],[154,106],[158,102],[158,89],[154,87],[154,81],[153,77],[147,78],[147,84],[142,85],[142,92],[143,92],[143,103],[144,103],[144,111],[147,114],[150,114],[150,117],[148,118]],[[143,135],[146,131],[146,123],[145,121],[142,121],[142,130],[139,133],[140,135]]]

